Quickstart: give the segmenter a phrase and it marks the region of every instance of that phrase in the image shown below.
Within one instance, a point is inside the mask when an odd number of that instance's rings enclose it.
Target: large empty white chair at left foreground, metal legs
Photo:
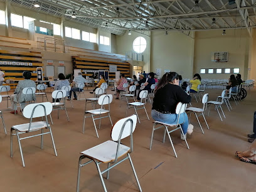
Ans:
[[[18,144],[19,144],[19,151],[21,152],[21,160],[23,163],[23,167],[25,166],[24,158],[23,158],[23,152],[21,149],[21,140],[28,139],[31,137],[41,136],[41,149],[43,149],[43,135],[50,134],[51,135],[51,141],[53,142],[53,149],[55,152],[55,156],[57,156],[55,143],[53,141],[53,134],[51,132],[50,124],[48,124],[47,115],[50,115],[53,107],[50,102],[44,102],[44,103],[38,103],[38,104],[29,104],[27,105],[23,110],[24,117],[30,119],[28,124],[20,124],[20,125],[14,125],[11,127],[11,157],[13,157],[13,136],[17,136]],[[37,117],[45,117],[46,121],[38,121],[38,122],[32,122],[34,118]],[[48,132],[44,132],[43,130],[47,129]],[[16,132],[16,134],[13,134],[13,131]],[[27,137],[19,137],[20,134],[26,134],[26,133],[34,133],[35,131],[41,131],[39,134],[34,134],[31,136],[31,134]]]

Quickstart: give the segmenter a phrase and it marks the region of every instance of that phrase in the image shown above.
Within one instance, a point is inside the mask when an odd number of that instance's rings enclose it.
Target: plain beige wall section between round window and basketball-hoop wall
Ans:
[[[194,40],[180,32],[151,33],[151,71],[156,68],[171,70],[183,78],[191,78],[193,73]]]

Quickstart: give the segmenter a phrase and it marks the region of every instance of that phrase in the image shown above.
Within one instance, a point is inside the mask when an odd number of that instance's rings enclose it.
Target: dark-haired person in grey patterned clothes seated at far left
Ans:
[[[31,73],[30,72],[23,72],[23,78],[24,80],[20,80],[17,87],[14,90],[14,95],[11,95],[11,108],[13,109],[11,111],[11,114],[17,114],[17,103],[21,104],[21,108],[24,109],[25,107],[25,102],[30,101],[30,100],[36,100],[36,95],[35,93],[33,95],[24,95],[23,94],[23,88],[26,87],[35,87],[36,88],[36,83],[33,80],[30,80],[31,78]],[[25,100],[26,96],[26,100]]]

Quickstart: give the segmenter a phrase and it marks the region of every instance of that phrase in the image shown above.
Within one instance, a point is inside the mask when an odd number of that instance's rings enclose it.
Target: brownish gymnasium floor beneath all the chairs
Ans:
[[[114,93],[110,90],[108,93]],[[209,100],[215,100],[221,90],[207,90]],[[85,91],[86,97],[92,97]],[[48,98],[51,100],[50,93]],[[213,108],[210,116],[206,116],[210,130],[202,122],[205,134],[191,115],[194,132],[188,138],[190,149],[179,139],[179,131],[171,134],[178,158],[174,157],[173,149],[168,140],[161,142],[163,130],[154,134],[152,150],[149,142],[152,131],[151,104],[146,108],[150,120],[146,119],[143,110],[139,111],[141,124],[134,131],[134,152],[131,157],[143,191],[256,191],[256,166],[243,163],[235,157],[235,151],[245,150],[250,146],[247,134],[252,132],[253,112],[256,108],[256,92],[248,92],[247,98],[235,105],[232,101],[232,112],[223,106],[226,118],[221,122]],[[38,102],[41,99],[38,99]],[[111,125],[109,119],[102,120],[98,130],[99,139],[95,135],[92,119],[87,119],[85,134],[82,134],[83,111],[85,100],[73,100],[74,108],[67,102],[68,122],[64,111],[53,111],[53,137],[58,156],[54,155],[50,135],[44,137],[44,148],[40,149],[40,137],[21,141],[23,147],[23,168],[18,142],[14,137],[13,158],[9,155],[10,128],[12,125],[29,122],[21,112],[9,114],[6,102],[0,104],[3,111],[7,136],[0,127],[0,186],[1,191],[75,191],[77,183],[77,167],[80,152],[110,139]],[[111,117],[113,122],[125,117],[125,99],[113,100]],[[201,106],[193,99],[192,105]],[[134,114],[129,109],[128,114]],[[97,124],[99,125],[99,124]],[[129,144],[129,139],[124,139]],[[102,168],[106,168],[104,164]],[[109,180],[105,179],[108,191],[138,191],[129,161],[116,166],[110,171]],[[82,168],[80,191],[103,191],[95,164]]]

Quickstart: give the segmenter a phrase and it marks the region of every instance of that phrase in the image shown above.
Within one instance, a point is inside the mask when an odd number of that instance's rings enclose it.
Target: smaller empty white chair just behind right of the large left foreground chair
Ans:
[[[51,97],[53,97],[53,99],[54,99],[54,102],[51,103],[51,105],[53,106],[53,110],[58,110],[58,119],[60,118],[60,110],[63,110],[63,109],[65,110],[67,119],[68,119],[68,113],[67,113],[67,109],[65,107],[66,95],[67,95],[67,92],[65,90],[55,90],[54,92],[51,93]],[[59,99],[60,102],[56,102],[56,99]],[[50,115],[50,118],[51,118],[51,115]],[[68,119],[68,121],[69,121],[69,119]],[[53,124],[52,119],[51,119],[51,124]]]

